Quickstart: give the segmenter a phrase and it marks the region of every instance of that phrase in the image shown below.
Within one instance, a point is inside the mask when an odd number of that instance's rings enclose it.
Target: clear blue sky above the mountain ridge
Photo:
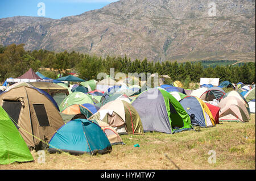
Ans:
[[[118,0],[0,0],[0,18],[12,16],[39,16],[38,3],[45,5],[46,18],[60,19],[85,11],[101,9]],[[43,11],[40,11],[43,12]]]

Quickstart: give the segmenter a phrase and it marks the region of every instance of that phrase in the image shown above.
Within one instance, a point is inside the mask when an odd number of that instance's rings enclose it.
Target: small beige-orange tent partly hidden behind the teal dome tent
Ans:
[[[103,121],[96,121],[96,120],[93,120],[93,121],[97,123],[101,127],[101,129],[105,132],[111,145],[124,145],[122,138],[119,136],[119,134],[115,131],[115,129],[112,126],[110,126],[108,123],[105,123]]]

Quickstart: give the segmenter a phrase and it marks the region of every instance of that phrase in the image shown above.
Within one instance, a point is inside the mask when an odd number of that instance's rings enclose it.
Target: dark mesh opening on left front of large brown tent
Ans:
[[[8,113],[11,117],[11,120],[15,122],[15,125],[18,124],[20,110],[22,108],[22,104],[16,101],[3,101],[3,109]]]

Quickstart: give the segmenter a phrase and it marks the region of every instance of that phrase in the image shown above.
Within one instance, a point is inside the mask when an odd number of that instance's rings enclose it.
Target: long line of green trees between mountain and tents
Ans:
[[[181,64],[177,61],[151,62],[147,58],[132,61],[126,56],[102,58],[66,50],[58,53],[43,49],[24,50],[24,44],[11,44],[5,47],[0,45],[0,61],[1,82],[9,77],[19,77],[30,68],[34,71],[38,71],[39,68],[52,68],[64,71],[64,75],[68,75],[67,69],[71,69],[85,80],[96,79],[98,73],[109,74],[110,68],[114,68],[115,73],[158,73],[169,75],[172,81],[181,82],[200,82],[200,77],[220,78],[220,82],[255,82],[255,62],[247,62],[241,66],[217,65],[204,68],[200,61],[187,61]],[[57,78],[57,73],[53,71],[45,71],[43,74],[49,78]]]

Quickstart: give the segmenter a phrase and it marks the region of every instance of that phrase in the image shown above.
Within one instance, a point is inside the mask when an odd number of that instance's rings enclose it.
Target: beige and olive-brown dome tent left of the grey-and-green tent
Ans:
[[[102,106],[89,120],[108,123],[118,134],[143,134],[143,127],[138,112],[124,100],[113,100]]]

